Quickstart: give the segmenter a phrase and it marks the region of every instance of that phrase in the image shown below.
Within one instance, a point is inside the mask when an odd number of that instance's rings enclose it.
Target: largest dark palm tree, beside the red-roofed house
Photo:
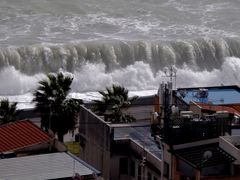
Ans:
[[[40,112],[41,127],[51,129],[63,142],[64,134],[75,129],[77,113],[81,100],[67,99],[73,78],[63,73],[48,74],[47,79],[39,81],[33,93],[33,102]]]

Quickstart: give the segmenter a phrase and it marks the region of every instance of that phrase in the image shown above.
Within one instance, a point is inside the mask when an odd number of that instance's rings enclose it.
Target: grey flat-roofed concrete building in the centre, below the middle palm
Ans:
[[[99,169],[106,180],[161,179],[161,149],[151,136],[151,113],[146,115],[135,123],[112,124],[82,106],[80,158]]]

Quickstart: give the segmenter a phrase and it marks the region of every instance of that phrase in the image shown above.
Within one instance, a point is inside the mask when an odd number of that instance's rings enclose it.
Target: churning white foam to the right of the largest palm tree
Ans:
[[[226,58],[220,69],[212,71],[195,71],[184,65],[177,68],[177,87],[239,85],[240,59]],[[74,74],[73,91],[102,90],[112,83],[124,85],[131,91],[157,89],[161,81],[165,81],[164,72],[152,72],[151,67],[142,61],[135,62],[126,68],[111,73],[105,72],[103,64],[86,64],[83,71]]]

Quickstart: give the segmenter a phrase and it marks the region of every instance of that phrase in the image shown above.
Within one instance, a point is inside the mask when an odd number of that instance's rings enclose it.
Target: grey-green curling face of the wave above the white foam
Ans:
[[[0,49],[0,67],[13,66],[28,75],[79,71],[86,63],[103,63],[111,72],[143,61],[153,72],[175,65],[213,70],[225,57],[240,57],[240,39],[196,39],[170,42],[88,42],[62,46],[27,46]]]

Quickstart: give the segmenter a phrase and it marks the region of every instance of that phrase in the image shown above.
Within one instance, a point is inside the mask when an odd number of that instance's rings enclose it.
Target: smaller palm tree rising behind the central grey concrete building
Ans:
[[[111,88],[106,88],[106,92],[99,91],[101,100],[94,100],[94,108],[98,115],[104,116],[105,121],[112,123],[126,123],[135,121],[131,115],[124,113],[129,108],[137,96],[128,97],[128,90],[122,86],[113,84]]]

